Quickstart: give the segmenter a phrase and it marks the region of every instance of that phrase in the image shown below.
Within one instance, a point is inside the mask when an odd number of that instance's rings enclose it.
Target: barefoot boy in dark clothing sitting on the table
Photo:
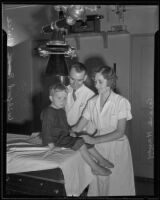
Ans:
[[[91,167],[93,174],[101,176],[110,175],[111,171],[106,167],[112,168],[112,163],[104,159],[93,145],[85,144],[80,137],[70,136],[64,110],[67,100],[67,88],[61,83],[51,86],[49,99],[51,101],[50,106],[41,113],[43,144],[48,145],[50,150],[54,149],[54,147],[79,150],[83,159]]]

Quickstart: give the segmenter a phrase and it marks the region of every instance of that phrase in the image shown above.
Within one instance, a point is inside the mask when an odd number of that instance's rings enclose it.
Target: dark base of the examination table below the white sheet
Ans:
[[[64,177],[60,168],[6,175],[6,195],[66,196]]]

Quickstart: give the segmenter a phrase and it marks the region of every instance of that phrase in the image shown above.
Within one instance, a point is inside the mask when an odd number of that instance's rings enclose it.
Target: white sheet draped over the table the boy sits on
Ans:
[[[17,147],[21,145],[28,145],[28,147],[30,145],[33,146],[32,143],[28,143],[28,139],[30,139],[30,136],[23,137],[22,135],[16,134],[7,135],[8,144]],[[16,143],[14,143],[14,141]],[[94,178],[90,167],[84,162],[78,151],[62,149],[44,158],[43,156],[45,154],[46,149],[42,149],[41,151],[8,151],[7,173],[39,171],[60,167],[64,175],[67,196],[79,196]]]

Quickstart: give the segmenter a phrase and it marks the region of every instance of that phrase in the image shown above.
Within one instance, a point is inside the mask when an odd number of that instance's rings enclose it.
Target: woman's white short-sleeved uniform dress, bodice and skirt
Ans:
[[[122,107],[121,111],[117,108]],[[123,108],[124,105],[124,108]],[[125,111],[127,107],[127,111]],[[99,131],[99,135],[104,135],[114,131],[117,127],[118,117],[125,116],[131,119],[129,102],[121,96],[111,93],[103,110],[100,112],[100,97],[93,100],[84,117],[91,113],[92,122]],[[124,111],[124,112],[123,112]],[[125,113],[126,112],[126,113]],[[113,162],[114,168],[109,176],[96,176],[91,183],[88,196],[130,196],[135,195],[134,174],[132,156],[127,136],[112,141],[95,145],[96,149],[109,161]]]

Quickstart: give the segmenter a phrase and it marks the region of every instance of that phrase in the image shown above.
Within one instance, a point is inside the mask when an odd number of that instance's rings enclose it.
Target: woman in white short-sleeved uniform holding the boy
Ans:
[[[83,135],[86,143],[95,144],[97,150],[113,164],[109,177],[99,177],[90,185],[88,196],[135,195],[132,156],[125,135],[126,122],[132,118],[129,101],[113,92],[116,75],[112,68],[101,67],[95,73],[98,95],[87,104],[79,123],[73,128],[80,132],[92,121],[97,134]]]

